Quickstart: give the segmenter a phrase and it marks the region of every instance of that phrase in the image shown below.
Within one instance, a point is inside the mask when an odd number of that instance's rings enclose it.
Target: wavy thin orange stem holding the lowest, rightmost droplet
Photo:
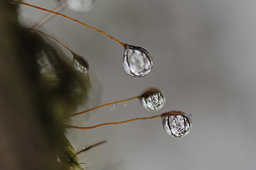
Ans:
[[[162,117],[162,116],[163,116],[163,113],[160,114],[160,115],[156,115],[154,117],[132,118],[130,120],[125,120],[125,121],[122,121],[122,122],[109,122],[109,123],[105,123],[105,124],[93,125],[93,126],[90,126],[90,127],[79,127],[79,126],[75,126],[75,125],[67,125],[67,127],[68,128],[74,128],[74,129],[94,129],[96,127],[100,127],[100,126],[104,126],[104,125],[125,124],[127,122],[132,122],[132,121],[135,121],[135,120],[148,120],[148,119]]]

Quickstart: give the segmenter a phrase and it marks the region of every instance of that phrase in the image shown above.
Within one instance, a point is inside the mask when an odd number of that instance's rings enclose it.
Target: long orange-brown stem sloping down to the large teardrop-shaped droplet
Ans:
[[[103,34],[103,35],[105,35],[105,36],[108,36],[109,38],[113,39],[114,41],[116,41],[117,43],[119,43],[119,44],[122,45],[122,46],[126,46],[126,45],[127,45],[126,43],[122,43],[121,41],[117,40],[117,39],[114,38],[113,36],[110,36],[109,34],[106,34],[105,32],[103,32],[103,31],[101,31],[101,30],[99,30],[99,29],[97,29],[97,28],[95,28],[95,27],[92,27],[92,26],[90,26],[90,25],[88,25],[88,24],[85,24],[85,23],[83,23],[83,22],[81,22],[81,21],[79,21],[79,20],[76,20],[76,19],[74,19],[74,18],[68,17],[67,15],[64,15],[64,14],[62,14],[62,13],[58,13],[58,12],[55,12],[55,11],[47,10],[47,9],[41,8],[41,7],[39,7],[39,6],[35,6],[35,5],[33,5],[33,4],[23,3],[23,2],[19,2],[19,1],[15,1],[15,0],[9,0],[9,1],[10,1],[10,2],[13,2],[13,3],[24,4],[24,5],[26,5],[26,6],[30,6],[30,7],[32,7],[32,8],[36,8],[36,9],[38,9],[38,10],[47,11],[47,12],[50,12],[50,13],[54,13],[54,14],[56,14],[56,15],[60,15],[61,17],[68,18],[68,19],[70,19],[70,20],[73,20],[74,22],[78,22],[79,24],[82,24],[82,25],[84,25],[84,26],[86,26],[86,27],[88,27],[88,28],[90,28],[90,29],[94,29],[95,31],[100,32],[100,34]]]

